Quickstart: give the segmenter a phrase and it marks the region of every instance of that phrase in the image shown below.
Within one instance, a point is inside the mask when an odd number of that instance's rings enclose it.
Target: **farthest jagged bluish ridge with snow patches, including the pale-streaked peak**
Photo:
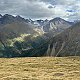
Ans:
[[[0,27],[8,26],[9,24],[13,23],[24,23],[25,26],[31,25],[33,28],[38,31],[39,33],[44,34],[45,37],[53,37],[54,35],[61,33],[65,29],[72,26],[74,23],[65,21],[64,19],[61,19],[59,17],[54,18],[52,20],[36,20],[33,21],[31,19],[24,19],[21,16],[12,16],[9,14],[0,15]],[[9,25],[9,26],[10,26]],[[12,26],[12,25],[11,25]],[[10,28],[10,27],[9,27]],[[26,27],[27,29],[28,27]],[[25,29],[25,28],[24,28]],[[25,29],[25,30],[26,30]],[[31,31],[30,31],[31,32]]]

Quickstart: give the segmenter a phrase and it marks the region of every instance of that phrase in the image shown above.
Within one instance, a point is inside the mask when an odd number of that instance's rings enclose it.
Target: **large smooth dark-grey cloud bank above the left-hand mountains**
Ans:
[[[0,13],[22,15],[27,18],[47,18],[54,15],[44,3],[38,0],[1,0]],[[44,4],[44,6],[42,6]]]

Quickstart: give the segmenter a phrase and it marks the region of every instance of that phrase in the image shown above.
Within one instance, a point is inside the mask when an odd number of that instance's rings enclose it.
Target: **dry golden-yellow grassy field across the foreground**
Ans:
[[[80,80],[80,57],[1,58],[0,80]]]

